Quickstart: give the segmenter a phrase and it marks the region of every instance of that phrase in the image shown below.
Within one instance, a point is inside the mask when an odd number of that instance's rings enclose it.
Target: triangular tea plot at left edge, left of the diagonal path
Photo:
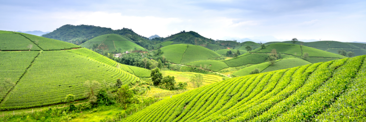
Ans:
[[[10,78],[10,81],[16,84],[38,54],[38,51],[1,51],[0,82],[4,82],[5,78]],[[0,90],[0,101],[11,88],[12,86],[7,86]]]

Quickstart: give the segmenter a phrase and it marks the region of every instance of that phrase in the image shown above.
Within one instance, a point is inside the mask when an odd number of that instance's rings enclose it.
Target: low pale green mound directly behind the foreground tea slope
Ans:
[[[244,69],[236,71],[232,75],[235,75],[235,76],[249,75],[249,73],[256,68],[258,68],[261,71],[261,73],[265,73],[265,72],[269,72],[269,71],[282,70],[282,69],[288,69],[288,68],[292,68],[292,67],[303,66],[306,64],[311,64],[311,62],[301,59],[301,58],[280,59],[280,60],[276,60],[276,63],[273,65],[270,65],[270,62],[255,64],[253,66],[246,67]]]

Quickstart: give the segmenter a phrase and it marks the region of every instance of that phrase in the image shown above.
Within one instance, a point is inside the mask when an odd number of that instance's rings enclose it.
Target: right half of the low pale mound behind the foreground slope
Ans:
[[[267,67],[266,69],[262,70],[261,73],[275,71],[275,70],[288,69],[288,68],[292,68],[292,67],[303,66],[306,64],[311,64],[311,62],[308,62],[301,58],[282,59],[282,60],[279,60],[278,62],[276,62],[275,64]]]

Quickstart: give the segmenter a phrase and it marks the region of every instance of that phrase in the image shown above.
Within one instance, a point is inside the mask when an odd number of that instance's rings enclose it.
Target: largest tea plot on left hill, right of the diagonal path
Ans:
[[[101,84],[141,82],[139,78],[104,63],[67,51],[43,51],[23,75],[1,109],[27,108],[60,103],[68,94],[84,99],[87,80]]]

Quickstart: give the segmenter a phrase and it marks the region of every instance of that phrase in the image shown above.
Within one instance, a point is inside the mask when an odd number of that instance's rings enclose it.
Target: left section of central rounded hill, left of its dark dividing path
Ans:
[[[172,63],[179,64],[180,60],[182,60],[182,56],[184,54],[184,51],[186,51],[188,45],[185,44],[175,44],[175,45],[169,45],[163,48],[160,48],[161,51],[163,51],[163,56],[167,58],[167,60],[170,60]]]

